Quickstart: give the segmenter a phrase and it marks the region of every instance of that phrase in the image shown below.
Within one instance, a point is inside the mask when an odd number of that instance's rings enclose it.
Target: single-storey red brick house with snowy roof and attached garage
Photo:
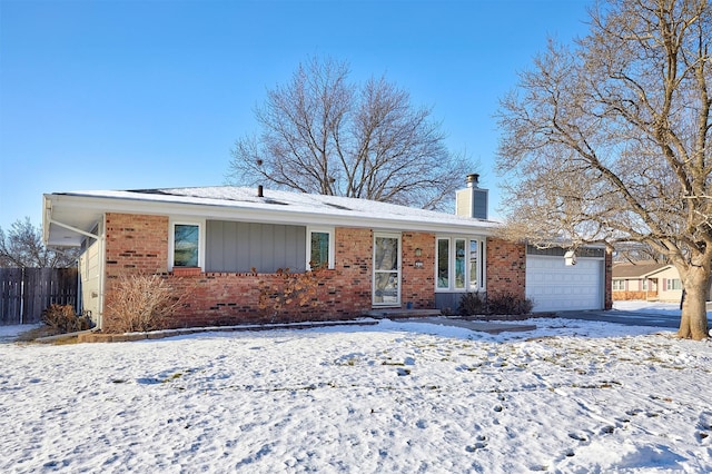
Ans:
[[[284,318],[456,310],[466,292],[531,297],[535,310],[611,307],[610,255],[590,249],[565,266],[563,249],[542,255],[498,239],[486,197],[473,175],[457,192],[463,215],[261,187],[56,192],[44,195],[43,237],[82,248],[82,305],[105,329],[125,274],[160,274],[187,293],[171,322],[186,327],[268,320],[260,292],[278,269],[309,265],[324,268],[319,313]]]

